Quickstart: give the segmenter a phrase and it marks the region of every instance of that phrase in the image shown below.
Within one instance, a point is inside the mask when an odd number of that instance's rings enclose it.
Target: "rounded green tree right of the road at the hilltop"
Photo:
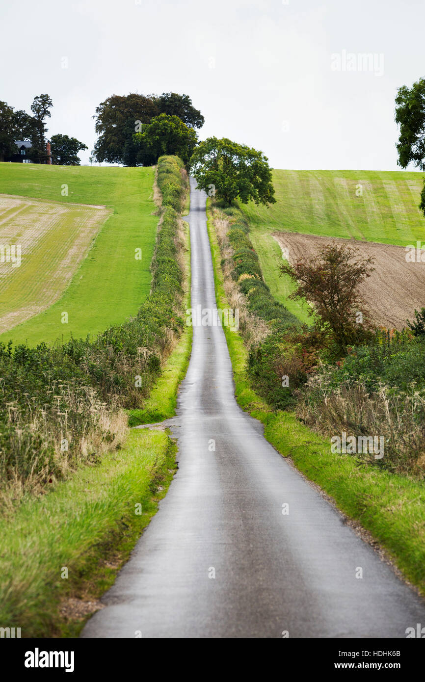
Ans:
[[[227,138],[209,137],[194,150],[190,160],[198,187],[231,204],[239,198],[258,204],[276,203],[272,170],[262,151],[238,145]]]

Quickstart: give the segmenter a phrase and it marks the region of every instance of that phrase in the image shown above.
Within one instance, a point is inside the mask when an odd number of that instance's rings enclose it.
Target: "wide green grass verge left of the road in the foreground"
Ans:
[[[87,617],[68,618],[59,606],[111,587],[166,494],[175,450],[165,432],[134,430],[125,448],[0,520],[3,627],[23,637],[78,635]]]

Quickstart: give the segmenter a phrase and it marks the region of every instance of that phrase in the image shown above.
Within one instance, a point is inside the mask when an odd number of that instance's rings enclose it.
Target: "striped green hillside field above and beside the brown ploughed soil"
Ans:
[[[398,246],[425,241],[425,218],[418,208],[422,178],[422,173],[403,171],[274,170],[276,204],[268,208],[240,205],[274,297],[307,320],[306,306],[287,301],[292,288],[279,277],[280,248],[272,237],[274,231]],[[362,195],[356,196],[356,190]]]

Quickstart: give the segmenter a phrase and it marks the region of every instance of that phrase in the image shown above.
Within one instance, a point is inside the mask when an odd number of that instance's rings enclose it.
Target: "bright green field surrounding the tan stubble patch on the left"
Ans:
[[[7,342],[54,342],[96,334],[135,314],[149,293],[158,218],[152,215],[153,168],[0,163],[0,191],[46,201],[106,206],[104,222],[61,299],[0,336]],[[68,196],[61,196],[68,185]],[[134,257],[141,248],[142,259]],[[40,273],[42,276],[42,273]],[[68,323],[62,323],[62,313]]]

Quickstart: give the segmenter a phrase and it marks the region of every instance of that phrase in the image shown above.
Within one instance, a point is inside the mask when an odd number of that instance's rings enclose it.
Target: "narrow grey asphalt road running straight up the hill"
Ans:
[[[193,180],[190,198],[192,308],[214,309]],[[425,623],[422,600],[239,409],[222,327],[193,331],[179,469],[83,637],[405,637]]]

